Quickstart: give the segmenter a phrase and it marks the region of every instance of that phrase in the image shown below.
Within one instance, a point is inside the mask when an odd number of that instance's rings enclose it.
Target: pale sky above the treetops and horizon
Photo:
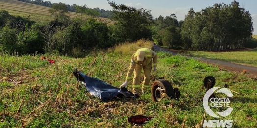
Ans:
[[[77,4],[79,6],[87,5],[89,8],[100,8],[104,10],[112,10],[107,0],[43,0],[50,1],[51,3],[65,3],[69,5]],[[109,0],[114,1],[116,4],[124,4],[126,6],[135,8],[144,8],[151,10],[154,18],[162,15],[163,17],[175,14],[177,20],[184,20],[185,15],[190,8],[195,12],[201,11],[206,7],[213,6],[215,3],[230,4],[234,0]],[[252,17],[254,26],[253,34],[257,35],[257,0],[235,0],[239,2],[241,7],[249,11]]]

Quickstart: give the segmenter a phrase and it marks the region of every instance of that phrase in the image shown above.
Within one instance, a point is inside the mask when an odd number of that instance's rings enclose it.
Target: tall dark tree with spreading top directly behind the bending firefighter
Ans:
[[[118,21],[115,23],[117,31],[114,32],[118,42],[133,42],[141,38],[152,39],[150,25],[154,21],[151,10],[116,5],[110,1],[108,3],[113,7],[114,20]]]

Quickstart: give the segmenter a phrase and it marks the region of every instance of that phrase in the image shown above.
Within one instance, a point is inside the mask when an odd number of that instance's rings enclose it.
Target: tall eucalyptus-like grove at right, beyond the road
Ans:
[[[257,40],[252,39],[251,15],[236,1],[214,4],[200,12],[191,8],[184,21],[171,14],[159,16],[154,23],[153,36],[158,44],[173,49],[220,51],[257,47]]]

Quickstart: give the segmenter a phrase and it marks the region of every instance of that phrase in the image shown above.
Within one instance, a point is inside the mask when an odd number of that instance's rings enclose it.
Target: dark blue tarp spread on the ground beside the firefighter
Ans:
[[[73,71],[74,76],[77,81],[86,86],[87,91],[100,98],[103,102],[108,102],[109,100],[117,97],[132,97],[134,94],[128,91],[126,88],[117,88],[110,84],[107,84],[97,78],[89,77],[86,74],[78,71],[76,68]]]

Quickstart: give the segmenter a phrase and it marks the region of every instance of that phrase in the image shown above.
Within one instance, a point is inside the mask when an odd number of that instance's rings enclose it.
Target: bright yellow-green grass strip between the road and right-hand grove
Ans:
[[[182,54],[257,66],[257,49],[231,52],[183,51]]]

